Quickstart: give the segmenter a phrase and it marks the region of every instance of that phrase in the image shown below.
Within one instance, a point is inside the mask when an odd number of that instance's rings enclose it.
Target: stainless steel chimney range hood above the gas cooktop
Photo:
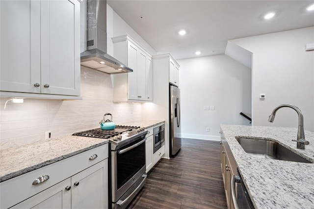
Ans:
[[[131,68],[107,54],[107,1],[87,0],[87,51],[80,53],[80,65],[119,74]]]

